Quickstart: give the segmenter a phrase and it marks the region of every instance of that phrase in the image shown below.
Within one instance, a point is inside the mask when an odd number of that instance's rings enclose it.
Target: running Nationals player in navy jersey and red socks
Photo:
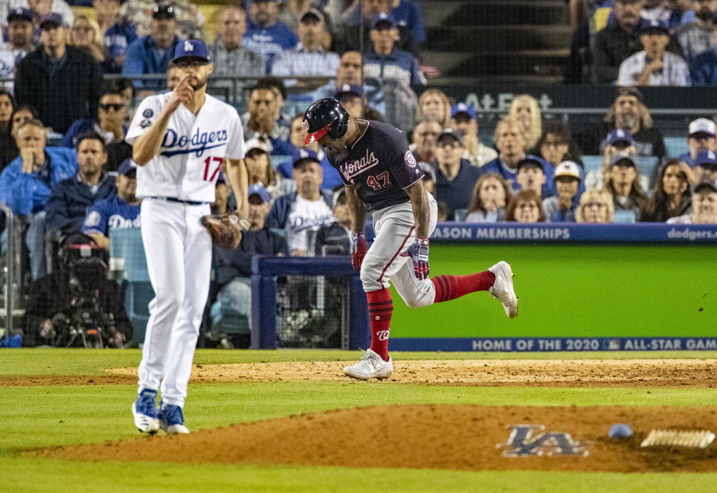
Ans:
[[[318,141],[346,185],[353,241],[351,262],[361,272],[369,302],[371,348],[343,368],[355,379],[385,379],[394,370],[389,356],[389,280],[412,308],[429,306],[475,291],[488,291],[505,314],[518,315],[511,266],[503,261],[471,275],[429,278],[428,238],[437,222],[435,199],[423,188],[423,172],[400,130],[380,122],[353,119],[336,99],[319,99],[306,110],[306,144]],[[366,252],[366,211],[374,213],[376,239]]]

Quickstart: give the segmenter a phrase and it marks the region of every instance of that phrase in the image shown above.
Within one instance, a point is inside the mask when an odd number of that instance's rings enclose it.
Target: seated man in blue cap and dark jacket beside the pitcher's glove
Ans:
[[[254,255],[289,255],[286,240],[267,226],[271,197],[262,185],[251,185],[248,190],[249,230],[234,250],[212,249],[214,278],[209,288],[212,319],[231,320],[232,316],[245,316],[252,324],[252,258]],[[216,302],[214,302],[216,300]]]

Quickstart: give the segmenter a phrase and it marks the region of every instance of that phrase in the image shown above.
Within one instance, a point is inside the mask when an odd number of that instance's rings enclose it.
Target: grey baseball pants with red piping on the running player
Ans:
[[[438,221],[438,205],[429,193],[430,212],[428,235],[432,235]],[[430,279],[419,280],[413,271],[413,260],[402,257],[416,240],[416,228],[411,202],[376,210],[374,213],[376,238],[364,263],[361,264],[361,283],[364,291],[378,291],[394,284],[401,298],[411,308],[433,304],[435,286]]]

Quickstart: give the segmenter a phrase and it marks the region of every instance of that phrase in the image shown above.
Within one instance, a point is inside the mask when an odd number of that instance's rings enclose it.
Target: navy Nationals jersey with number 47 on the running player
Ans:
[[[386,123],[368,123],[351,149],[334,154],[328,162],[338,170],[344,185],[356,185],[356,194],[366,210],[379,210],[408,202],[405,189],[423,178],[406,135]]]

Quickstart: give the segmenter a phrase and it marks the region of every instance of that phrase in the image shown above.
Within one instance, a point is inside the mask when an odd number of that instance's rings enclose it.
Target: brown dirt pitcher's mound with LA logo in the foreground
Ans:
[[[188,417],[191,427],[191,416]],[[610,425],[618,422],[631,424],[635,435],[622,441],[607,438]],[[536,426],[511,428],[516,424]],[[640,447],[651,429],[669,427],[716,431],[717,409],[379,406],[235,424],[185,436],[142,437],[37,453],[88,461],[471,471],[717,472],[716,444],[707,449]]]

